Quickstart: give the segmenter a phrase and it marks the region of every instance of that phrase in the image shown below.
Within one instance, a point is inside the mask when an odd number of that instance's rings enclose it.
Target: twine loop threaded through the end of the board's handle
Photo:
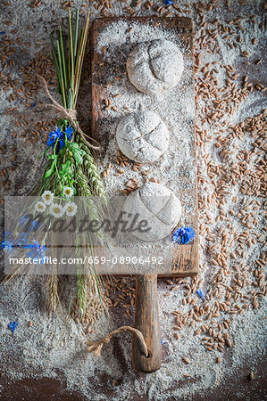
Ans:
[[[99,340],[99,341],[91,341],[88,340],[88,352],[94,352],[94,356],[100,356],[101,354],[101,349],[104,346],[104,344],[107,344],[108,342],[110,342],[110,340],[112,339],[113,335],[121,332],[121,331],[132,331],[134,332],[137,337],[138,340],[140,342],[140,346],[142,349],[142,353],[148,357],[149,356],[149,351],[146,347],[146,341],[144,339],[143,334],[141,333],[141,331],[138,331],[137,329],[134,329],[133,327],[130,326],[121,326],[116,330],[111,331],[109,334],[107,334],[106,336],[103,337],[103,339]]]

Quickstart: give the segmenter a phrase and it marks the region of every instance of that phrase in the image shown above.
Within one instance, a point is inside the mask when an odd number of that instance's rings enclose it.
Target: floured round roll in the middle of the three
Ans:
[[[122,153],[130,160],[152,162],[168,149],[169,131],[157,114],[146,110],[121,119],[116,139]]]

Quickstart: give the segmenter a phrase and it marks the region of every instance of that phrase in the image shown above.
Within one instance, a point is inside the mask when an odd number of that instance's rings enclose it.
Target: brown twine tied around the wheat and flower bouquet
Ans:
[[[77,112],[76,112],[76,110],[65,109],[61,104],[59,104],[58,102],[55,102],[55,100],[53,99],[52,95],[49,92],[48,86],[46,84],[46,79],[44,77],[41,77],[40,75],[38,75],[38,78],[43,81],[43,84],[44,84],[45,90],[46,90],[46,94],[49,97],[49,99],[52,101],[52,104],[51,103],[45,103],[44,106],[46,106],[46,107],[54,107],[55,110],[60,111],[62,116],[63,116],[63,118],[64,119],[68,119],[71,122],[71,126],[74,127],[79,132],[79,135],[82,137],[83,141],[88,145],[88,147],[92,148],[92,149],[95,149],[96,151],[99,150],[100,146],[92,145],[91,143],[88,142],[86,137],[88,137],[91,141],[94,141],[94,142],[98,143],[96,141],[96,139],[92,138],[91,136],[86,135],[82,131],[82,129],[80,129],[79,123],[77,121]]]

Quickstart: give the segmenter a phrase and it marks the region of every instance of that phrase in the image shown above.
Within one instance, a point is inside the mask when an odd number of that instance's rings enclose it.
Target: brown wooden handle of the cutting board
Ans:
[[[137,275],[134,327],[143,334],[149,355],[144,355],[137,336],[133,334],[133,367],[140,372],[155,372],[161,367],[162,363],[156,274]]]

